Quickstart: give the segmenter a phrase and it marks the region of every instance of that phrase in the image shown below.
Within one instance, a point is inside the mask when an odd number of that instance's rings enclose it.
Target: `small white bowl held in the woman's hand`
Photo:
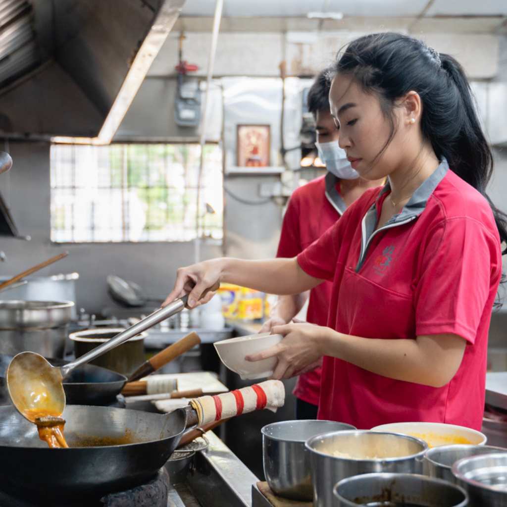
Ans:
[[[243,380],[262,379],[273,374],[278,359],[269,357],[251,363],[245,360],[245,355],[262,352],[277,343],[282,335],[262,333],[256,335],[240,336],[215,342],[216,352],[229,370],[237,373]]]

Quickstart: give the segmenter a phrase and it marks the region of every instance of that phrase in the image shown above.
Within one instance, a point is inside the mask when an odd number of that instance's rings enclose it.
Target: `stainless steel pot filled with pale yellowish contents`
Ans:
[[[313,504],[331,507],[338,505],[333,486],[347,477],[372,472],[421,474],[428,446],[399,433],[355,430],[313,437],[306,448],[311,455]]]

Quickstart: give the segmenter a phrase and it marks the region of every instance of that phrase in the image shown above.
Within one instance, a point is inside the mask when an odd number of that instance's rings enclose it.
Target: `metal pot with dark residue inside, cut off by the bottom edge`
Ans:
[[[465,507],[463,488],[441,479],[415,474],[364,474],[340,481],[333,489],[339,507]]]

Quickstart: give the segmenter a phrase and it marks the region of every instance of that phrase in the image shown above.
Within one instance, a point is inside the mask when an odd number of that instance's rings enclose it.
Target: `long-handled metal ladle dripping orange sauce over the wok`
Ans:
[[[201,298],[210,291],[216,291],[219,286],[217,282],[206,289]],[[35,419],[41,416],[61,416],[65,409],[65,391],[62,381],[71,370],[180,312],[187,305],[187,298],[188,296],[184,296],[176,299],[165,308],[151,313],[114,338],[61,367],[51,366],[42,355],[35,352],[16,354],[7,369],[7,388],[13,405],[30,422],[35,422]]]

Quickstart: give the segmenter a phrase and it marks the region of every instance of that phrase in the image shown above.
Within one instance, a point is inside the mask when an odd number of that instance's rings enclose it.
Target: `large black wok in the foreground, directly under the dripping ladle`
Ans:
[[[146,483],[178,445],[187,412],[192,409],[160,415],[68,405],[63,417],[70,448],[50,449],[35,425],[14,407],[0,407],[0,490],[29,501],[42,497],[51,504],[98,499]],[[73,448],[80,441],[101,438],[132,443]]]

